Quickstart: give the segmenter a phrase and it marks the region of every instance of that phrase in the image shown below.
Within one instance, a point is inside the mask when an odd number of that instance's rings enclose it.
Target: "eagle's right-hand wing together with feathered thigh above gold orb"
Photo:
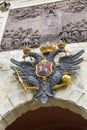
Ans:
[[[74,75],[80,68],[78,64],[83,61],[80,56],[84,53],[84,50],[76,53],[75,55],[69,55],[59,58],[59,65],[54,67],[54,71],[51,77],[51,87],[60,84],[61,79],[65,74]]]

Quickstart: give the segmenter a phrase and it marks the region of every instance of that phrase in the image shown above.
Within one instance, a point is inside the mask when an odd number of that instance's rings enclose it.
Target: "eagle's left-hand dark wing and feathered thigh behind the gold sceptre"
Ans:
[[[32,63],[25,61],[19,62],[14,59],[11,59],[11,62],[16,65],[11,66],[11,69],[16,69],[18,71],[23,83],[27,84],[28,86],[39,87],[39,82],[35,76],[35,68],[33,67]]]

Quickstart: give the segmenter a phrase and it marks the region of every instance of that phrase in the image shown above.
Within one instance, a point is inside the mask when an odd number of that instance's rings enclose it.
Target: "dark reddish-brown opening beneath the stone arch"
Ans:
[[[87,120],[79,114],[59,107],[28,111],[6,130],[87,130]]]

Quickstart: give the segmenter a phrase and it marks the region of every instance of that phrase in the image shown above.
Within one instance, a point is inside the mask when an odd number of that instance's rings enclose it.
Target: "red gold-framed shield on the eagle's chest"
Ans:
[[[42,60],[36,65],[36,75],[38,77],[47,77],[52,73],[52,63],[47,60]]]

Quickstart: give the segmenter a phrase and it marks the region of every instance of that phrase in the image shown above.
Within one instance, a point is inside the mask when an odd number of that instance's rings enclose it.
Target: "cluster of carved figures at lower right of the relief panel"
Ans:
[[[87,21],[82,19],[75,24],[69,22],[65,26],[62,26],[62,31],[59,34],[60,39],[71,42],[82,42],[87,40]]]

